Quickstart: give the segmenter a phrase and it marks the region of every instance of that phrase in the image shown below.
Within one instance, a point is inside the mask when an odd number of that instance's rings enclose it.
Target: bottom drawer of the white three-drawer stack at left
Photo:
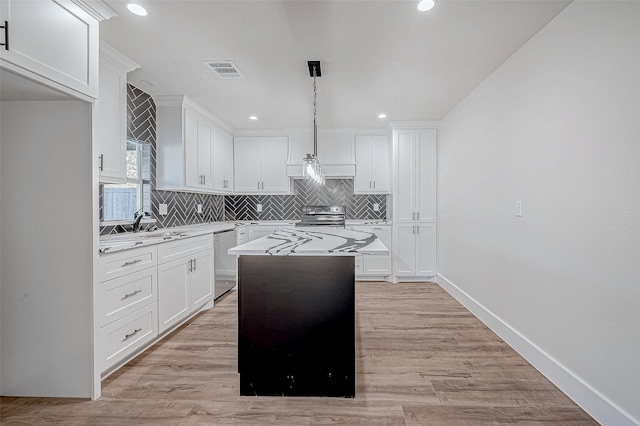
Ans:
[[[102,371],[127,358],[158,335],[156,302],[100,329]]]

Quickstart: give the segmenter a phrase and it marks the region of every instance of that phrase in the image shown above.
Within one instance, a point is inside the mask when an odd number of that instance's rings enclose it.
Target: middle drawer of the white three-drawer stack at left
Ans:
[[[97,320],[112,323],[158,300],[158,270],[148,268],[98,284]]]

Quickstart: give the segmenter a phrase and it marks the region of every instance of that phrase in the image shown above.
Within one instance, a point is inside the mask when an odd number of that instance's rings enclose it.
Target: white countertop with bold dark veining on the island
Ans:
[[[297,227],[229,249],[233,255],[387,255],[389,249],[375,234],[332,227]]]

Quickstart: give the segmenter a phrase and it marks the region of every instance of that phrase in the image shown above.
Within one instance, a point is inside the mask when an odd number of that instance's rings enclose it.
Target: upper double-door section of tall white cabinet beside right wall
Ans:
[[[396,183],[394,222],[436,218],[436,131],[394,131]]]

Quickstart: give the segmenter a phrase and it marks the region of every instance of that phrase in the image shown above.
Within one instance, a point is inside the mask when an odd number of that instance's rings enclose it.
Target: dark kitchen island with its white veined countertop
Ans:
[[[373,233],[296,228],[234,247],[240,395],[355,396],[356,255]]]

